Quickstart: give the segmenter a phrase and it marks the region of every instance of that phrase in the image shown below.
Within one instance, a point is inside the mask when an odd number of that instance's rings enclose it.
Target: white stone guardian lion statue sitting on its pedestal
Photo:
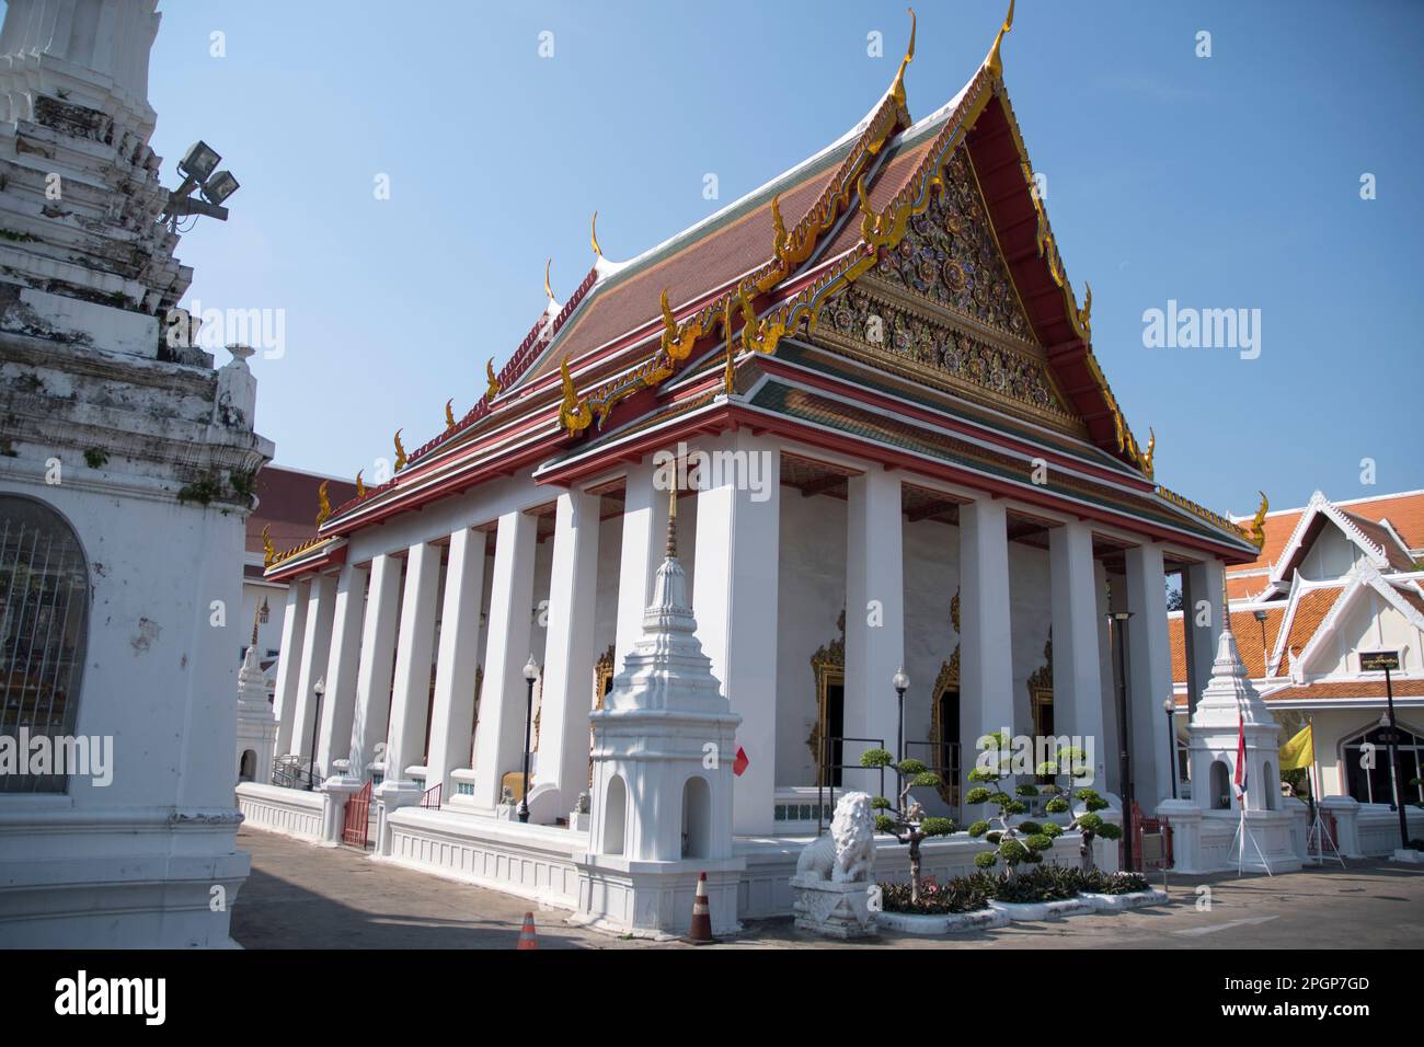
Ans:
[[[847,792],[836,803],[830,833],[810,843],[796,862],[792,876],[796,926],[840,939],[874,934],[876,919],[870,912],[874,865],[870,796]]]

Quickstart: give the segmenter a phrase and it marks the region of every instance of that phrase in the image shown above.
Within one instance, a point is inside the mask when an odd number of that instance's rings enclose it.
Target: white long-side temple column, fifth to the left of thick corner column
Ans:
[[[406,789],[406,768],[424,762],[430,665],[434,661],[436,600],[440,591],[440,547],[419,543],[406,554],[406,591],[396,641],[396,679],[390,691],[386,731],[386,781]],[[427,782],[429,785],[429,782]],[[387,789],[389,792],[389,789]]]

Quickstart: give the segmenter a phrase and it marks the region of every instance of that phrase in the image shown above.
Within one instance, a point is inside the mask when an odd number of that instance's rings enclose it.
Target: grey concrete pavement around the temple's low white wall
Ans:
[[[513,949],[534,909],[541,949],[689,947],[618,939],[565,924],[561,909],[372,862],[346,848],[316,848],[256,829],[238,846],[252,876],[232,909],[232,936],[248,949]],[[1153,883],[1161,886],[1161,877]],[[1210,889],[1199,907],[1198,887]],[[1276,877],[1168,877],[1171,905],[1094,913],[1000,930],[924,939],[881,934],[836,943],[789,919],[756,920],[718,949],[1418,949],[1424,944],[1424,870],[1388,862]]]

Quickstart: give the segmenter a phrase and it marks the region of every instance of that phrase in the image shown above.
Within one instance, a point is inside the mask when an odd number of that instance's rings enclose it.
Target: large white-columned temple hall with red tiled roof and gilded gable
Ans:
[[[1118,795],[1125,735],[1142,808],[1171,795],[1166,580],[1219,610],[1259,534],[1163,486],[1114,396],[1010,103],[1011,24],[918,118],[911,24],[843,137],[637,258],[605,258],[595,228],[567,299],[545,282],[504,366],[453,387],[473,407],[424,443],[413,419],[393,476],[269,551],[279,755],[342,798],[369,786],[380,856],[578,905],[591,835],[605,858],[622,839],[600,819],[651,802],[584,813],[581,795],[669,486],[696,640],[739,718],[711,758],[735,761],[740,915],[790,910],[826,789],[876,792],[859,754],[897,738],[944,779],[926,808],[961,825],[975,742],[1002,728],[1091,739]],[[1182,655],[1198,694],[1213,621]],[[298,835],[336,823],[322,793],[244,783],[239,803]],[[689,818],[678,796],[658,811]],[[926,869],[983,846],[927,843]]]

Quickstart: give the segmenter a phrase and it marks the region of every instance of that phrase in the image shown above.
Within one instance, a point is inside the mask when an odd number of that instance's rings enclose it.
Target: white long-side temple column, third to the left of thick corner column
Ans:
[[[537,521],[523,511],[500,517],[484,647],[484,689],[474,738],[474,802],[493,811],[504,773],[524,758],[525,682],[534,613]]]

